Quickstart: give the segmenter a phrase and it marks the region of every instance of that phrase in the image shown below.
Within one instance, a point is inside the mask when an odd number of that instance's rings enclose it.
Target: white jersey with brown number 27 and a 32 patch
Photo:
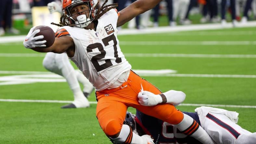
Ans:
[[[69,35],[73,39],[75,54],[70,59],[97,91],[107,89],[131,69],[117,39],[117,19],[117,11],[111,9],[98,19],[96,31],[64,26],[56,32],[56,37]]]

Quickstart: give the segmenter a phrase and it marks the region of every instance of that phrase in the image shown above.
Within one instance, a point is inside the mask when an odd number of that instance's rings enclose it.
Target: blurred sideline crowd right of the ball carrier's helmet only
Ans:
[[[135,0],[113,0],[114,3],[119,3],[119,11],[133,1]],[[226,18],[227,13],[230,13],[231,18]],[[235,27],[238,22],[247,23],[248,19],[256,19],[256,0],[163,0],[148,14],[142,14],[141,20],[136,18],[135,27],[137,29],[148,26],[158,27],[159,16],[165,14],[169,26],[198,23],[196,18],[190,16],[199,14],[200,23],[221,23],[225,26],[228,19]],[[151,15],[153,22],[149,21]],[[252,15],[253,18],[250,17]],[[129,24],[128,27],[132,28],[134,24]]]

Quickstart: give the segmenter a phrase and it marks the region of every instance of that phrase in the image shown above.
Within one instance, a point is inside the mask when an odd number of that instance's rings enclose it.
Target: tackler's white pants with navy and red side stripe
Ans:
[[[212,107],[195,109],[203,129],[217,144],[254,144],[256,133],[251,133],[239,125],[238,113]]]

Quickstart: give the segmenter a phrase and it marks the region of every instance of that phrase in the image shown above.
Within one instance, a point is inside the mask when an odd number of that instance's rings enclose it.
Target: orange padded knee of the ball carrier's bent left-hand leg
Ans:
[[[121,131],[122,123],[119,120],[111,120],[102,129],[107,136],[113,137]]]

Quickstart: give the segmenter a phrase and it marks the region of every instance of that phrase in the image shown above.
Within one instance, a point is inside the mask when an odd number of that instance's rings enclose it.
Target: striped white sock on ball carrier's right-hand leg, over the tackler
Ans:
[[[185,135],[196,138],[204,144],[214,144],[208,133],[190,116],[184,114],[183,120],[175,125]]]

